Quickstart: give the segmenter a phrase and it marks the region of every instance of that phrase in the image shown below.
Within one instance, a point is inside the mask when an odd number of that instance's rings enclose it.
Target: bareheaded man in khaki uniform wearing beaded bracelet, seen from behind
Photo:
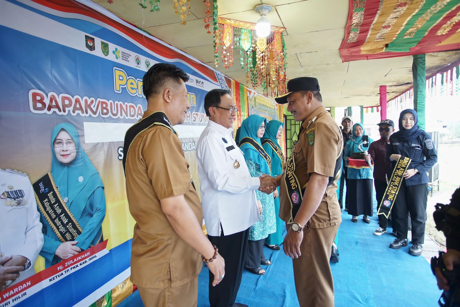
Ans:
[[[224,278],[224,260],[201,229],[200,199],[173,129],[190,108],[188,79],[175,65],[153,65],[143,79],[147,110],[125,136],[126,190],[136,220],[131,281],[145,306],[196,306],[201,255],[212,261],[213,284]]]

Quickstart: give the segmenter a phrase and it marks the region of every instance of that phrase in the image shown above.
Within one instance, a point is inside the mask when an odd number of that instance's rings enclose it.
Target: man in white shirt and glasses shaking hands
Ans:
[[[230,91],[213,89],[206,94],[207,127],[196,144],[201,203],[209,241],[225,260],[225,277],[215,287],[209,283],[211,307],[246,306],[235,303],[247,254],[249,227],[259,218],[255,190],[271,193],[275,180],[251,177],[244,156],[233,140],[235,102]],[[209,272],[209,280],[214,278]]]

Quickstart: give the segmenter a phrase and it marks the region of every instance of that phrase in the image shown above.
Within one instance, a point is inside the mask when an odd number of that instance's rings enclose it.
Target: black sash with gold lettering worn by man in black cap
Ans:
[[[294,144],[294,147],[296,144]],[[288,224],[292,224],[293,218],[299,211],[303,198],[303,193],[300,189],[299,179],[297,179],[297,176],[295,176],[294,173],[294,147],[291,150],[291,154],[289,155],[288,161],[286,161],[286,174],[284,175],[284,184],[286,185],[286,191],[288,192],[289,196],[289,203],[291,204],[291,218],[288,220]]]

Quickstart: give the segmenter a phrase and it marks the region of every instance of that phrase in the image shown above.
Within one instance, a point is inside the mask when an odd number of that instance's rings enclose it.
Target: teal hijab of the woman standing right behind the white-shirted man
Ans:
[[[267,119],[259,115],[249,115],[241,124],[240,130],[240,141],[245,137],[250,137],[256,141],[262,148],[262,143],[260,138],[257,137],[257,130],[261,124],[266,124]],[[244,153],[244,159],[247,161],[252,159],[255,163],[260,165],[260,171],[265,174],[270,174],[270,167],[268,166],[267,161],[259,154],[259,152],[251,145],[245,143],[240,146],[240,149]]]

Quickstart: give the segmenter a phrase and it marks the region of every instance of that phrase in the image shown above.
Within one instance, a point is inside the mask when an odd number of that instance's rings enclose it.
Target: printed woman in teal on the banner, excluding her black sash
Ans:
[[[80,145],[75,127],[57,124],[51,137],[51,174],[61,199],[82,228],[75,241],[61,242],[41,213],[45,242],[40,255],[49,267],[102,240],[105,217],[104,184]]]

